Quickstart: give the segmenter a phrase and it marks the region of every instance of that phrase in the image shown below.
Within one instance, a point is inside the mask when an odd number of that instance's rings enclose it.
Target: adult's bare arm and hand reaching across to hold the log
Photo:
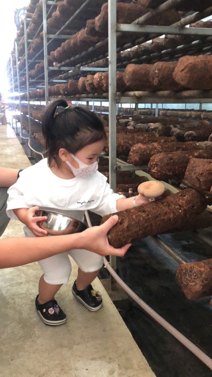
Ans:
[[[67,236],[0,239],[0,268],[40,261],[72,249],[86,249],[102,256],[123,256],[131,244],[115,249],[108,242],[108,231],[117,221],[118,216],[114,215],[99,227]]]

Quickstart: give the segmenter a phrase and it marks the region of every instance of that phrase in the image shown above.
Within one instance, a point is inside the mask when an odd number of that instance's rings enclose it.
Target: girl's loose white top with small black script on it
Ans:
[[[17,182],[9,188],[8,195],[6,213],[14,220],[17,216],[13,209],[38,205],[40,209],[57,211],[83,221],[85,210],[101,216],[117,212],[116,202],[124,198],[110,189],[107,178],[100,172],[85,178],[57,177],[49,168],[47,158],[23,170]],[[32,235],[26,226],[24,230]]]

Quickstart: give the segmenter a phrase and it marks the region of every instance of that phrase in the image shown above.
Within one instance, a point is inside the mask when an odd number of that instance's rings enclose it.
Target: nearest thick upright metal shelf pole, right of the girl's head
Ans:
[[[108,0],[108,43],[109,43],[109,181],[116,192],[116,0]],[[116,269],[116,257],[110,256],[111,267]],[[116,289],[116,282],[110,275],[110,288]]]

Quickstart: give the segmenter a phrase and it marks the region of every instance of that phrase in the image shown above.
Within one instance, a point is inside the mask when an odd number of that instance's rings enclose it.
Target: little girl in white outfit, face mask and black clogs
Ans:
[[[61,112],[59,106],[64,108]],[[46,231],[37,225],[41,220],[35,217],[37,206],[83,221],[85,210],[103,216],[147,202],[141,195],[126,199],[114,193],[106,177],[97,171],[106,133],[94,113],[69,107],[63,100],[55,101],[45,111],[42,131],[47,158],[23,170],[17,183],[8,190],[7,215],[25,224],[26,237],[46,236]],[[88,310],[102,307],[101,294],[93,290],[91,282],[103,265],[103,257],[88,250],[55,255],[38,262],[43,275],[35,307],[47,325],[66,322],[66,314],[55,300],[55,294],[69,280],[69,255],[78,265],[72,294]]]

